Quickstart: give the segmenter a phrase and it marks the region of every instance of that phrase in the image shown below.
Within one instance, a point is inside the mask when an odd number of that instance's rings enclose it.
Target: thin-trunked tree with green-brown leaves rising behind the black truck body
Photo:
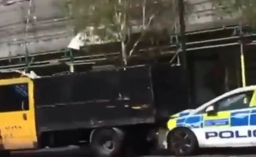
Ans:
[[[172,7],[173,0],[58,0],[57,4],[65,13],[73,17],[76,32],[88,32],[89,30],[94,36],[99,36],[100,42],[121,42],[123,64],[126,65],[127,59],[131,57],[141,40],[160,32],[151,26],[153,20],[163,14],[164,10],[147,8],[155,5],[156,1]],[[170,10],[168,6],[165,8]],[[140,16],[142,23],[138,24]],[[172,16],[169,15],[169,17]],[[131,28],[134,25],[142,25],[142,27],[137,27],[142,35],[132,44],[131,48],[127,48],[127,42],[130,42],[128,36],[132,33]]]

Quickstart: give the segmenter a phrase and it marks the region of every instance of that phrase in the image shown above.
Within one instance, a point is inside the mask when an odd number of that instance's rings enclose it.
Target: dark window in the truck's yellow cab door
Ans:
[[[0,86],[0,112],[29,110],[27,84]]]

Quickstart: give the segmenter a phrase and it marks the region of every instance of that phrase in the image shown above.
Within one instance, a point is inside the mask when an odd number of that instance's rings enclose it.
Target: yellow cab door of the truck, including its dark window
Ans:
[[[0,80],[0,134],[3,148],[36,147],[33,82],[27,77]]]

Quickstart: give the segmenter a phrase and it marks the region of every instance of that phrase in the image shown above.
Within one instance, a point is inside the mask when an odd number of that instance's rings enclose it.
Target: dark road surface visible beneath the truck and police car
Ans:
[[[211,149],[202,150],[196,156],[191,157],[255,157],[256,149]],[[45,148],[38,151],[13,152],[11,157],[94,157],[89,148],[69,146],[63,148]],[[140,157],[172,157],[165,152],[159,152],[149,156]]]

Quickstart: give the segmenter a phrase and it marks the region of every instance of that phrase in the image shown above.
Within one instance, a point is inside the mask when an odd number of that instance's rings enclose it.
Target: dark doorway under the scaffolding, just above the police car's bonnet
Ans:
[[[191,53],[188,62],[191,81],[190,108],[196,108],[224,93],[225,66],[220,62],[218,53]]]

